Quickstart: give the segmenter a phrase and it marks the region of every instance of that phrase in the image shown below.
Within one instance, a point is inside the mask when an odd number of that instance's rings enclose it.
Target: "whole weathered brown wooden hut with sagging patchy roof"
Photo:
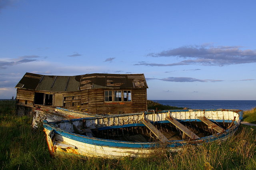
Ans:
[[[56,106],[96,114],[147,110],[144,74],[84,74],[47,76],[26,73],[16,85],[17,113]]]

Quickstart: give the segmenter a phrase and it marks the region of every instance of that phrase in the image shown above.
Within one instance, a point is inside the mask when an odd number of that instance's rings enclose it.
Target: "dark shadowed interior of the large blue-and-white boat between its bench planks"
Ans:
[[[151,122],[149,123],[152,124]],[[202,138],[218,133],[216,130],[208,128],[207,124],[204,124],[203,122],[181,122],[181,124],[188,128],[189,132],[192,132],[193,134],[198,136],[197,138]],[[231,123],[224,122],[221,123],[221,125],[218,125],[223,128],[223,130],[225,130],[231,125]],[[155,123],[154,125],[152,124],[152,126],[158,129],[162,136],[165,136],[167,138],[166,141],[184,139],[182,138],[182,130],[177,128],[177,126],[172,123]],[[86,129],[88,128],[80,128],[79,130],[75,130],[74,133],[86,135]],[[130,142],[166,142],[160,140],[158,136],[154,135],[154,133],[148,127],[143,126],[143,124],[140,124],[140,126],[130,126],[125,128],[92,128],[91,131],[93,137],[95,138],[122,140]],[[194,138],[190,138],[186,135],[185,139],[190,140]]]

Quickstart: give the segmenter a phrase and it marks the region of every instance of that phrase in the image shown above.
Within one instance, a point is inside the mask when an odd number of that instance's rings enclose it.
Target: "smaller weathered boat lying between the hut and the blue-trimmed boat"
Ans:
[[[59,108],[59,107],[56,107],[54,111],[36,109],[36,113],[33,116],[32,127],[37,128],[38,123],[43,122],[44,120],[46,120],[47,122],[56,122],[60,120],[88,118],[93,116],[100,116],[100,115],[89,114],[87,112],[68,110],[68,109]]]

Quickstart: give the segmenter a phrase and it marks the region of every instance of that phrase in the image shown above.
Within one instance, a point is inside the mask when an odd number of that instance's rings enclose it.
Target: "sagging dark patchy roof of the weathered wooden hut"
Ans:
[[[26,73],[15,88],[54,92],[98,88],[148,88],[144,74],[84,74],[48,76]]]

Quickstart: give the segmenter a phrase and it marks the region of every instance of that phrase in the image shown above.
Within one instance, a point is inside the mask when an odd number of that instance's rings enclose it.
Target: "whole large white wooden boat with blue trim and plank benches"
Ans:
[[[146,156],[164,146],[225,140],[238,129],[242,110],[164,110],[45,122],[51,154],[84,156]]]

